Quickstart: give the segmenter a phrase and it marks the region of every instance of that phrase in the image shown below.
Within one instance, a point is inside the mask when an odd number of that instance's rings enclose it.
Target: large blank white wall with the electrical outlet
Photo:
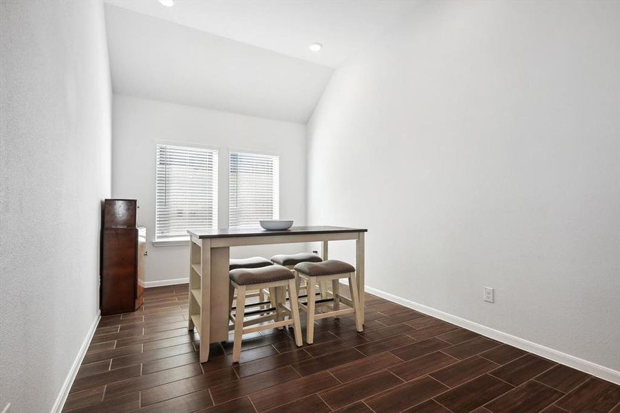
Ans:
[[[620,370],[619,6],[421,4],[315,109],[309,224],[367,226],[374,288]]]

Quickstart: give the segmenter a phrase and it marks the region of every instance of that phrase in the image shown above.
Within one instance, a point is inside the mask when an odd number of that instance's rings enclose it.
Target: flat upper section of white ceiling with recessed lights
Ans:
[[[338,67],[414,10],[417,0],[107,0],[159,19]],[[311,52],[318,41],[323,50]]]

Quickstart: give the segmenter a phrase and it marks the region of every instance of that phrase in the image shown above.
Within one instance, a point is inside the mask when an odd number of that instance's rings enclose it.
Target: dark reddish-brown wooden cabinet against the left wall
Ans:
[[[136,227],[136,200],[105,200],[101,236],[102,315],[142,306],[146,229]]]

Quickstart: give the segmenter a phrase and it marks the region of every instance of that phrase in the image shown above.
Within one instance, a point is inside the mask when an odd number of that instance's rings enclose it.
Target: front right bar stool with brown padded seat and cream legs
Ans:
[[[308,285],[308,301],[299,303],[302,310],[308,312],[308,322],[306,330],[306,341],[312,344],[314,341],[314,320],[323,319],[325,317],[338,317],[339,315],[351,314],[355,315],[355,328],[357,331],[363,331],[361,315],[363,309],[359,305],[359,297],[357,293],[357,282],[355,277],[355,268],[351,264],[338,260],[327,260],[324,262],[302,262],[295,266],[295,271],[299,277],[305,278]],[[342,297],[339,292],[339,279],[349,279],[349,290],[351,299]],[[317,281],[327,282],[332,280],[332,295],[334,296],[334,309],[327,313],[314,314],[317,304],[329,304],[331,299],[320,299],[314,294]],[[350,308],[340,309],[340,303],[348,305]]]

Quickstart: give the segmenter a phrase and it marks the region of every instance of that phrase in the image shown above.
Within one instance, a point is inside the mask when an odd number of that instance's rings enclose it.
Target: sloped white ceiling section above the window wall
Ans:
[[[110,4],[105,19],[116,94],[303,124],[333,72]]]

